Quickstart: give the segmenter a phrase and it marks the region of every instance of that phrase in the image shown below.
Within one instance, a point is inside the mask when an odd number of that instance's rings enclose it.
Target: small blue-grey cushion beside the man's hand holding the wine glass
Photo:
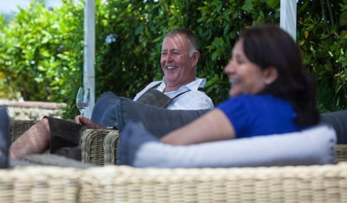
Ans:
[[[112,92],[102,94],[94,106],[92,121],[102,126],[116,126],[116,103],[118,99],[119,97]]]

